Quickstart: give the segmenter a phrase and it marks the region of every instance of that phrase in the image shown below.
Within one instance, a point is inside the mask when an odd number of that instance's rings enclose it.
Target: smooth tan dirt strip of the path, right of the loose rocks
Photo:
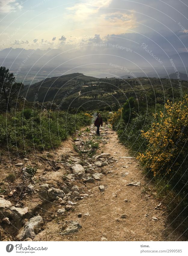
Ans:
[[[90,127],[87,139],[92,138],[95,128]],[[103,177],[94,183],[78,182],[82,193],[89,196],[76,201],[76,206],[66,216],[46,223],[35,241],[175,241],[179,234],[166,222],[165,207],[155,198],[153,185],[146,179],[136,159],[118,141],[115,131],[104,127],[100,137],[100,149],[96,155],[109,153],[115,161],[97,168]],[[86,132],[82,132],[81,140]],[[128,158],[130,157],[130,158]],[[140,182],[140,185],[127,185]],[[149,184],[148,186],[146,186]],[[100,185],[105,191],[101,192]],[[58,205],[54,206],[56,210]],[[155,209],[157,207],[157,209]],[[78,217],[81,213],[82,216]],[[156,219],[152,219],[155,217]],[[65,222],[66,221],[66,222]],[[77,221],[82,226],[78,232],[61,235],[62,226]]]

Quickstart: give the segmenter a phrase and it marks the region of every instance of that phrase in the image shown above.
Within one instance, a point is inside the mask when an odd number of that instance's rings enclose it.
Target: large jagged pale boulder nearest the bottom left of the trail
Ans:
[[[28,220],[26,224],[20,229],[16,240],[22,241],[26,238],[33,239],[35,235],[40,232],[40,228],[43,226],[43,220],[41,216],[35,216]]]

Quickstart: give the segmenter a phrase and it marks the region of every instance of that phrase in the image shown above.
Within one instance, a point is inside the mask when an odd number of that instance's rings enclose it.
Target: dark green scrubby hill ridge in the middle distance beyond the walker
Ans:
[[[172,87],[171,87],[172,84]],[[182,81],[182,87],[187,88],[187,82]],[[168,96],[180,94],[178,80],[138,77],[134,79],[96,78],[82,73],[67,74],[59,77],[46,78],[33,85],[26,85],[22,95],[30,102],[35,95],[39,102],[53,102],[60,109],[79,108],[93,110],[116,110],[133,96],[144,97],[152,94],[152,100],[164,102],[164,92]],[[173,89],[173,92],[172,92]],[[177,91],[176,91],[177,90]],[[180,95],[179,95],[180,96]],[[101,111],[100,110],[100,111]]]

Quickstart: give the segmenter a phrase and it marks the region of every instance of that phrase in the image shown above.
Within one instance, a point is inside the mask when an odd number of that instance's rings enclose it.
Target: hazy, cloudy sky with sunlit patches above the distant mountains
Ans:
[[[76,65],[163,68],[188,52],[187,13],[187,0],[1,0],[0,49],[50,48]]]

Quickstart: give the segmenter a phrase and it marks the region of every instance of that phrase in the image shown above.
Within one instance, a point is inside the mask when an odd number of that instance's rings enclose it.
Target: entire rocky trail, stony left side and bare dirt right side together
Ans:
[[[9,189],[0,191],[0,240],[182,241],[139,162],[110,126],[100,130],[98,137],[91,125],[19,162],[2,158],[0,184]]]

